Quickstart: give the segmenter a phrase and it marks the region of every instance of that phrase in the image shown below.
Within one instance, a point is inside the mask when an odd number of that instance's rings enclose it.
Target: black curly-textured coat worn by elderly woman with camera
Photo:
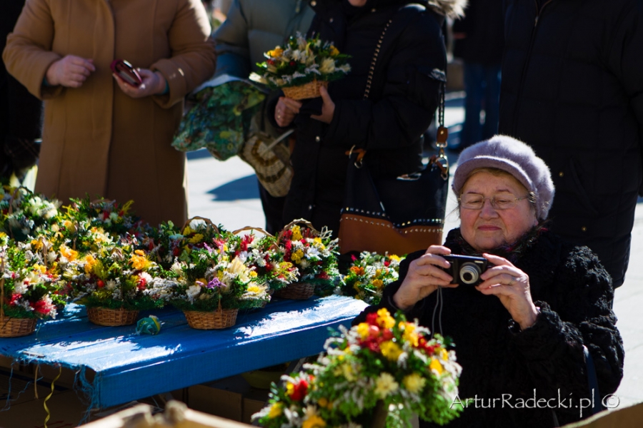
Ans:
[[[453,254],[473,255],[459,229],[449,232],[444,245]],[[379,307],[392,313],[397,310],[392,296],[409,264],[423,253],[404,260],[400,280],[387,286]],[[601,395],[596,400],[612,394],[623,376],[623,342],[609,307],[612,282],[596,255],[546,230],[513,255],[509,259],[529,275],[532,300],[540,307],[536,323],[526,330],[510,324],[509,312],[494,295],[483,295],[472,286],[442,289],[442,332],[454,340],[462,365],[458,397],[463,402],[478,399],[448,427],[549,428],[554,426],[553,412],[561,425],[581,419],[581,410],[575,406],[579,399],[589,397],[582,345],[589,348],[596,367]],[[434,292],[418,302],[407,312],[407,319],[417,318],[420,325],[432,328],[436,297]],[[353,324],[379,307],[368,307]],[[436,316],[438,332],[439,325]],[[533,408],[537,404],[526,400],[534,397],[534,389],[536,402],[552,401]],[[503,402],[502,398],[507,399]],[[519,399],[524,409],[517,408]],[[584,409],[582,417],[589,415],[589,409]],[[420,427],[432,424],[420,422]]]

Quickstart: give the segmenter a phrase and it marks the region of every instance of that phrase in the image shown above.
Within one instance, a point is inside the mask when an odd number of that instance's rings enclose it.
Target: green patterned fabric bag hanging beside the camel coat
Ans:
[[[266,98],[264,90],[241,78],[222,75],[196,88],[195,104],[181,119],[172,147],[206,148],[219,161],[236,156],[249,138],[252,117]]]

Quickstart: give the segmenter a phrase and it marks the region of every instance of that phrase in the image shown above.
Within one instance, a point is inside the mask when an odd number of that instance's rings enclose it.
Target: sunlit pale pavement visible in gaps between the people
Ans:
[[[464,109],[463,93],[447,96],[445,125],[451,134],[449,141],[457,142],[462,128]],[[447,152],[451,171],[457,168],[457,153]],[[449,180],[450,183],[450,180]],[[245,226],[264,227],[259,190],[252,168],[238,157],[221,162],[206,151],[188,153],[189,215],[209,218],[227,230]],[[456,197],[449,193],[444,236],[459,225]],[[614,296],[617,327],[625,347],[625,369],[621,385],[616,392],[619,406],[626,407],[643,402],[643,198],[639,198],[629,269],[624,284]]]

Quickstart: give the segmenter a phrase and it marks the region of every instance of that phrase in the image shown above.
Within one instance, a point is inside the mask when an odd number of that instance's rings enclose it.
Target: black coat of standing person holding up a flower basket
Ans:
[[[365,162],[374,176],[394,177],[421,168],[422,133],[432,121],[439,91],[439,82],[430,74],[434,68],[444,71],[447,63],[442,21],[459,2],[433,1],[444,7],[417,5],[404,21],[394,17],[365,100],[367,76],[382,31],[398,9],[412,2],[369,0],[366,6],[351,9],[347,0],[344,4],[342,0],[311,1],[316,15],[309,35],[319,34],[351,55],[352,71],[330,83],[335,111],[329,125],[309,117],[311,111],[321,112],[321,98],[304,103],[295,119],[294,179],[286,198],[285,222],[307,218],[316,228],[327,225],[337,234],[348,161],[345,153],[352,146],[367,149]]]

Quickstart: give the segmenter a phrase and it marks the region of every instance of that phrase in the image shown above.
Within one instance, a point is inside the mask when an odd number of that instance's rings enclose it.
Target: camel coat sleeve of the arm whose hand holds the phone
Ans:
[[[216,56],[210,37],[210,24],[201,0],[184,0],[169,29],[171,58],[161,59],[151,69],[166,78],[169,94],[155,96],[162,108],[181,101],[214,75]]]

